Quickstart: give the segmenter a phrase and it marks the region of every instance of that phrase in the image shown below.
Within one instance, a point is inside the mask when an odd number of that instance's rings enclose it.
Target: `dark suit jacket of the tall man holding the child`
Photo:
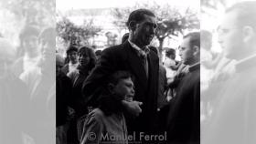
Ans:
[[[137,118],[128,118],[128,131],[155,131],[159,58],[150,50],[148,57],[148,78],[140,57],[128,41],[119,46],[106,48],[101,55],[100,63],[84,81],[82,93],[86,102],[97,106],[97,99],[106,84],[107,77],[117,70],[126,70],[133,74],[134,100],[143,102],[143,112]]]

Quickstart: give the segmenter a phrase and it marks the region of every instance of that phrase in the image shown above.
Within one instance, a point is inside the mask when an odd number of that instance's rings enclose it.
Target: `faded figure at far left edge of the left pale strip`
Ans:
[[[29,140],[27,87],[11,71],[15,58],[15,47],[0,38],[0,143],[5,144]]]

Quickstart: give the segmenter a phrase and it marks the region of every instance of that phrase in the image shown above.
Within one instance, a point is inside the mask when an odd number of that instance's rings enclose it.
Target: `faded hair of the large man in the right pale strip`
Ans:
[[[256,2],[245,1],[232,5],[226,10],[226,13],[237,11],[238,26],[256,27]]]

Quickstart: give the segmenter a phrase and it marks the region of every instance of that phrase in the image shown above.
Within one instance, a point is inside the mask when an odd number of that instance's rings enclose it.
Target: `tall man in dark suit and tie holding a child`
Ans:
[[[159,59],[148,48],[156,30],[155,14],[147,9],[133,11],[128,18],[129,38],[123,44],[106,48],[99,64],[84,81],[82,93],[89,105],[97,107],[97,99],[106,78],[117,70],[130,71],[134,77],[134,100],[123,101],[135,118],[128,118],[128,131],[154,132],[157,111]],[[140,140],[140,139],[139,139]],[[141,139],[143,140],[143,139]]]

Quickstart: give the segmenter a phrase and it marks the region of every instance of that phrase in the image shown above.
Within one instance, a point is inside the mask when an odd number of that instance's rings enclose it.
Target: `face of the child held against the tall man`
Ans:
[[[133,80],[131,77],[126,79],[121,79],[119,82],[113,87],[113,93],[116,94],[118,97],[123,97],[123,99],[126,99],[129,101],[133,100],[134,96],[134,85]]]

